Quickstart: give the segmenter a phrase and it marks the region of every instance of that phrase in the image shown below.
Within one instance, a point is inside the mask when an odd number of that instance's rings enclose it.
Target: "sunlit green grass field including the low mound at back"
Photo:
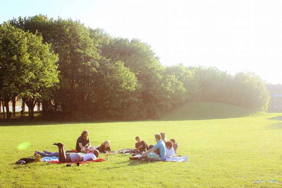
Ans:
[[[1,119],[1,187],[281,187],[281,113],[254,111],[219,103],[188,103],[160,120],[130,122],[11,122]],[[87,129],[92,145],[110,140],[112,150],[133,148],[135,136],[155,144],[166,132],[179,143],[178,155],[188,162],[141,162],[129,155],[109,161],[65,167],[66,164],[15,165],[34,150],[57,151],[54,142],[74,149]],[[30,142],[18,150],[22,142]],[[101,157],[105,157],[101,155]],[[264,183],[254,184],[256,179]]]

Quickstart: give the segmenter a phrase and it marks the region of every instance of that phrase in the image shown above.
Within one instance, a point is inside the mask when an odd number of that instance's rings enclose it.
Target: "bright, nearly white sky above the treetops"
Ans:
[[[281,0],[0,0],[0,23],[19,16],[80,20],[149,44],[165,66],[215,66],[282,83]]]

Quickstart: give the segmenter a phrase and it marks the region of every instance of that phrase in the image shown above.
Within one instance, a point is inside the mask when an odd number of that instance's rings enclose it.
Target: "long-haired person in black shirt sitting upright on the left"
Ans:
[[[94,146],[91,146],[91,143],[89,141],[88,134],[89,132],[87,130],[84,130],[81,133],[81,136],[76,140],[75,149],[77,150],[77,152],[88,153],[94,150]],[[86,145],[88,146],[86,147]]]

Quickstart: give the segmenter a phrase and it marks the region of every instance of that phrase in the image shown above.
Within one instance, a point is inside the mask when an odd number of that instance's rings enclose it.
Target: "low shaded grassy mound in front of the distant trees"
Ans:
[[[160,120],[208,120],[244,117],[256,110],[213,102],[192,102],[169,110]],[[260,112],[263,113],[263,112]]]

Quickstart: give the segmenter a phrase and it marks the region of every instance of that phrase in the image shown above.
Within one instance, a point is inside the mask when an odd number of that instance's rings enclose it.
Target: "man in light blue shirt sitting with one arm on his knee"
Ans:
[[[142,154],[142,157],[138,157],[138,159],[150,159],[150,160],[158,160],[163,161],[165,159],[165,144],[161,140],[162,137],[160,134],[155,134],[155,140],[157,144],[150,150],[147,150],[145,153]],[[159,149],[160,154],[153,153],[153,151]]]

